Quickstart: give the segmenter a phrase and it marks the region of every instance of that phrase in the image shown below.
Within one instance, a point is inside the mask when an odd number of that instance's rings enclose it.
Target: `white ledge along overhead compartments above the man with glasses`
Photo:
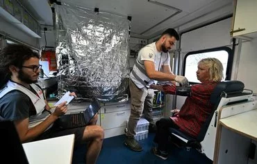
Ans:
[[[31,35],[32,37],[38,37],[41,38],[38,34],[36,34],[33,30],[22,24],[18,19],[13,17],[9,12],[4,10],[3,8],[0,7],[0,17],[3,17],[3,19],[6,19],[6,21],[10,22],[14,26],[17,26],[17,28],[23,30],[25,33],[28,35]]]

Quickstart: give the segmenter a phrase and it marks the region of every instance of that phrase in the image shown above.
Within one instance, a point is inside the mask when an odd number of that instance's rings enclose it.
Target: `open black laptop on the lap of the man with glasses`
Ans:
[[[93,98],[91,104],[81,113],[73,113],[61,116],[56,120],[55,124],[60,129],[71,129],[74,127],[84,127],[88,125],[90,120],[96,115],[101,108],[99,101]]]

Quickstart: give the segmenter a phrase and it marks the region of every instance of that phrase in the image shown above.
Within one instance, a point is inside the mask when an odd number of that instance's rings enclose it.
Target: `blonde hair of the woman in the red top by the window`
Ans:
[[[222,62],[216,58],[208,57],[200,60],[198,64],[204,64],[204,66],[207,66],[210,73],[210,81],[220,82],[224,78]]]

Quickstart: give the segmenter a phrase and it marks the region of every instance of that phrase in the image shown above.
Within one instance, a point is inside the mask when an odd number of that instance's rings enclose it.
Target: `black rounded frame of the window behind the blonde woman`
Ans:
[[[231,80],[231,74],[232,74],[232,65],[233,65],[233,51],[231,48],[222,46],[218,48],[208,48],[200,51],[191,51],[187,54],[185,54],[184,60],[183,60],[183,75],[185,75],[185,63],[186,59],[189,55],[194,55],[198,53],[209,53],[214,51],[226,51],[228,53],[228,62],[226,65],[226,77],[224,80]],[[199,84],[199,82],[189,82],[190,84]]]

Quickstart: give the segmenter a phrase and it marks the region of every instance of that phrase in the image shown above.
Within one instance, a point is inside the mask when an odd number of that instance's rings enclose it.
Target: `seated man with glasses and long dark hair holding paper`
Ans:
[[[96,163],[103,129],[96,118],[86,127],[60,129],[54,122],[67,112],[66,102],[51,112],[38,81],[40,56],[22,45],[8,45],[0,52],[0,121],[11,120],[22,143],[75,134],[75,146],[88,144],[86,163]],[[76,96],[75,93],[71,93]]]

